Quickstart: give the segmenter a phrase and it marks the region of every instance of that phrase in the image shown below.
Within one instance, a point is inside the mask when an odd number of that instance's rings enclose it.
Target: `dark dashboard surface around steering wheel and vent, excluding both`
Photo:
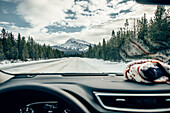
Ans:
[[[123,76],[58,76],[37,75],[34,77],[14,77],[0,85],[0,89],[19,85],[42,84],[53,88],[62,89],[79,101],[92,112],[113,112],[104,109],[96,99],[94,92],[104,93],[169,93],[168,84],[140,84],[125,81]]]

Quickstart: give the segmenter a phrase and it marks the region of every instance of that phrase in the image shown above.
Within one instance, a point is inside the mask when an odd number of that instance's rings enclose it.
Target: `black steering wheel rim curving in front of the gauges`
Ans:
[[[28,101],[33,101],[35,99],[34,97],[57,99],[65,105],[70,106],[74,113],[90,113],[77,98],[66,91],[48,84],[30,83],[0,87],[0,112],[18,113],[18,107],[21,107]]]

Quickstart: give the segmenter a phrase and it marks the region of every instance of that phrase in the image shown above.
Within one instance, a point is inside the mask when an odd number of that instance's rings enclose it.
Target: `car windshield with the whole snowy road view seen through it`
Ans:
[[[122,73],[169,63],[170,7],[134,0],[0,0],[0,70]]]

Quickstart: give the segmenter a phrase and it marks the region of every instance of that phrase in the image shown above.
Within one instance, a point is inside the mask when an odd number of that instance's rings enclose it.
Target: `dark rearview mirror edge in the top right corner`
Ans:
[[[141,4],[170,5],[170,0],[136,0]]]

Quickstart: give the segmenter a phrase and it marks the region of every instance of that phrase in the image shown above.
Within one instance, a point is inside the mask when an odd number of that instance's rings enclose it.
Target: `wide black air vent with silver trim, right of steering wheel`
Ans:
[[[128,112],[168,112],[170,93],[128,94],[94,92],[99,103],[108,110]]]

